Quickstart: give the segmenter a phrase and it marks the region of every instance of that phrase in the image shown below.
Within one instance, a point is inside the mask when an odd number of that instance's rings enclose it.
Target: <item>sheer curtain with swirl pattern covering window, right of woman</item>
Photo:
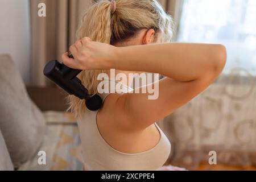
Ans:
[[[221,43],[224,72],[205,92],[164,119],[173,164],[193,169],[208,163],[256,164],[256,2],[185,0],[177,40]]]

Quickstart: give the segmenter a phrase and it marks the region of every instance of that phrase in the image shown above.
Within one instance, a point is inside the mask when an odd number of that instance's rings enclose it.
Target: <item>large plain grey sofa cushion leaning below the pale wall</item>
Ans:
[[[14,167],[36,154],[46,129],[43,114],[30,100],[18,68],[0,55],[0,129]]]

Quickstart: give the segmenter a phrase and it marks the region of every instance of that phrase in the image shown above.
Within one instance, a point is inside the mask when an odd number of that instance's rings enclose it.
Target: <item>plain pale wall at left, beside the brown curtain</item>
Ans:
[[[31,53],[29,0],[1,0],[0,17],[0,53],[11,55],[28,85]]]

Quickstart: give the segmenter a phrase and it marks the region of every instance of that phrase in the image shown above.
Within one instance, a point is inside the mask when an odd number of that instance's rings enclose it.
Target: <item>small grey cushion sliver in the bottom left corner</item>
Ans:
[[[13,171],[13,163],[11,163],[11,158],[7,150],[5,139],[0,130],[0,171]]]

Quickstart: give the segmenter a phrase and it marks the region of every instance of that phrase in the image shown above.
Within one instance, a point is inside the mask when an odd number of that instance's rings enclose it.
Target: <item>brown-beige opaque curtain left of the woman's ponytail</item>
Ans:
[[[38,16],[38,4],[46,4],[46,17]],[[60,56],[75,42],[79,19],[90,0],[30,0],[32,63],[31,84],[52,85],[43,76],[44,65]]]

